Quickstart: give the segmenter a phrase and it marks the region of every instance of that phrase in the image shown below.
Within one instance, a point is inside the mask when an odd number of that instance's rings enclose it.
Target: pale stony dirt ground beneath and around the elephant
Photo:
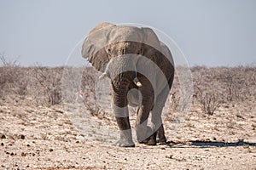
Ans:
[[[1,104],[0,169],[256,169],[255,101],[225,105],[213,116],[194,106],[175,131],[166,120],[169,144],[135,148],[87,138],[61,105],[45,107],[32,99]]]

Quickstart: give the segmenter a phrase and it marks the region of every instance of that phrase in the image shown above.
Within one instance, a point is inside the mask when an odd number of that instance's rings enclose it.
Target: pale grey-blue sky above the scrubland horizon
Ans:
[[[164,31],[191,66],[256,65],[255,0],[0,0],[0,54],[24,66],[64,65],[106,21]]]

